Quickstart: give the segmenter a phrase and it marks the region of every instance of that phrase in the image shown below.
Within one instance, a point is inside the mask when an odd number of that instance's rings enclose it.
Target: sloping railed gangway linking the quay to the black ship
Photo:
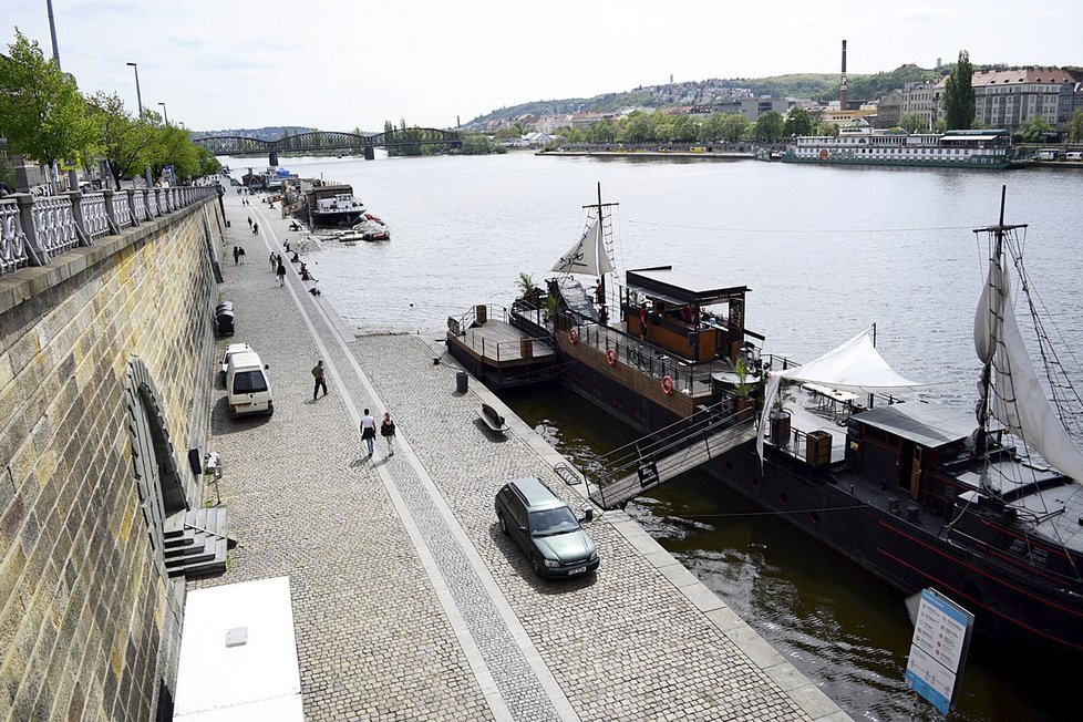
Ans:
[[[588,478],[590,499],[602,508],[622,506],[649,488],[755,439],[755,414],[726,415],[725,402],[698,411],[602,457],[605,472]]]

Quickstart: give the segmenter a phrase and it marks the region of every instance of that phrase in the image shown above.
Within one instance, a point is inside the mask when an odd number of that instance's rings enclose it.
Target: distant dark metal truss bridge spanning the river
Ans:
[[[463,138],[454,131],[440,131],[433,127],[395,128],[390,133],[377,135],[358,135],[357,133],[340,133],[338,131],[316,131],[300,133],[277,141],[240,135],[215,135],[196,138],[198,143],[214,155],[262,155],[267,154],[270,165],[278,165],[279,153],[323,153],[329,151],[345,152],[363,155],[367,161],[375,157],[374,148],[416,149],[426,145],[437,145],[445,148],[463,147]]]

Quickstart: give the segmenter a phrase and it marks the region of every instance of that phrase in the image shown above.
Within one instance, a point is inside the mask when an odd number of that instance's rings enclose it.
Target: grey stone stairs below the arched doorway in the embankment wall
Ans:
[[[165,519],[165,568],[171,577],[197,577],[226,570],[226,553],[237,542],[226,535],[220,506],[178,512]]]

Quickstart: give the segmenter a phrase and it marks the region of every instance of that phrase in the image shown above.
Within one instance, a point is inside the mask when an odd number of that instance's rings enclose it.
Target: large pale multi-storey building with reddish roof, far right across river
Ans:
[[[971,82],[974,122],[1019,131],[1025,121],[1035,117],[1056,125],[1062,92],[1066,94],[1065,85],[1074,86],[1077,81],[1059,68],[1019,68],[979,71]]]

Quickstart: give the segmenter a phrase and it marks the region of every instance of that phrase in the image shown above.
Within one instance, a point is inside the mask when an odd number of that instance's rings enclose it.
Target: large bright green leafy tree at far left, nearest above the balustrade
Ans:
[[[8,49],[11,56],[0,59],[0,135],[43,163],[86,154],[96,133],[75,79],[18,28]]]

